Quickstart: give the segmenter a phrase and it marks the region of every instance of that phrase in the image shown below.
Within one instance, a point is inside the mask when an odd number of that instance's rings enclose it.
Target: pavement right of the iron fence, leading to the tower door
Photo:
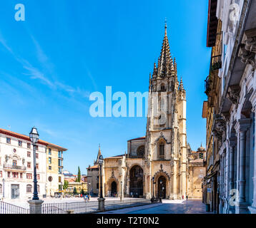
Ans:
[[[162,204],[113,210],[104,214],[211,214],[205,211],[205,204],[198,199],[163,199],[162,202]]]

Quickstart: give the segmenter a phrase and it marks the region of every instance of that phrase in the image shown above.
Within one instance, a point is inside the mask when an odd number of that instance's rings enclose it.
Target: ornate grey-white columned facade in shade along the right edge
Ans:
[[[218,0],[222,21],[220,106],[213,133],[219,140],[219,212],[256,213],[256,1]]]

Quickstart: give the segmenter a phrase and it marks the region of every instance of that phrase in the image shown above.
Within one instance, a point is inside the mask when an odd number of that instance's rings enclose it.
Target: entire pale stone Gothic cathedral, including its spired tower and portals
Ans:
[[[128,140],[124,155],[104,158],[105,197],[202,197],[205,148],[193,152],[187,143],[186,90],[178,81],[177,63],[169,50],[167,25],[158,63],[149,74],[147,132]],[[101,150],[97,155],[97,160]],[[91,193],[99,192],[99,165],[87,168]]]

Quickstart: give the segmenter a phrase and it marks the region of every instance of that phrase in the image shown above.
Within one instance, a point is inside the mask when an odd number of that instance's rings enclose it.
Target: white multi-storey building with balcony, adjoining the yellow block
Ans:
[[[36,144],[39,197],[46,194],[46,142]],[[33,145],[26,135],[0,129],[0,198],[31,199],[34,192]]]

